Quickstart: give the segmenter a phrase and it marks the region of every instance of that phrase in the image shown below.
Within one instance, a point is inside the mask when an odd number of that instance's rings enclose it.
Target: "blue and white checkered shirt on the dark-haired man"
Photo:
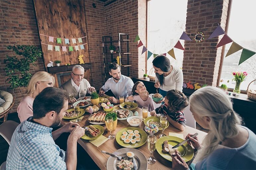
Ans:
[[[52,139],[52,128],[33,123],[31,119],[15,129],[6,169],[66,169],[65,151]]]

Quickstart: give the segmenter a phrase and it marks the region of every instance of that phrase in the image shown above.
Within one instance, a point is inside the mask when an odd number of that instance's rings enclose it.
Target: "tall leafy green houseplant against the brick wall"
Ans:
[[[6,55],[4,59],[6,77],[8,77],[6,82],[11,84],[11,89],[27,87],[32,77],[29,73],[31,64],[36,65],[34,62],[42,56],[41,49],[33,45],[14,45],[8,46],[7,49],[20,57]]]

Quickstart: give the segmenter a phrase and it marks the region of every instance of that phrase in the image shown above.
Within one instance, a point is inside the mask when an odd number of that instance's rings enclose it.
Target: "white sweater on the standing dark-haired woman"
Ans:
[[[159,81],[157,77],[155,78],[155,81]],[[183,73],[182,70],[177,67],[173,66],[172,72],[164,77],[164,85],[160,86],[160,89],[164,91],[169,91],[169,90],[179,90],[182,92],[183,89]]]

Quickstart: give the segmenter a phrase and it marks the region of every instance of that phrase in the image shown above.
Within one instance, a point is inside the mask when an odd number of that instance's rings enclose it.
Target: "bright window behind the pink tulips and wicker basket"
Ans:
[[[232,0],[230,9],[230,17],[228,22],[227,35],[237,44],[248,50],[256,52],[256,28],[255,16],[255,0]],[[238,65],[242,50],[225,57],[232,43],[225,46],[222,70],[220,75],[219,85],[226,84],[228,88],[234,88],[235,82],[231,81],[232,71],[246,71],[247,78],[241,83],[241,90],[246,90],[248,84],[256,79],[256,55],[247,59],[242,64]],[[228,82],[229,81],[229,82]],[[256,89],[256,82],[250,86]]]

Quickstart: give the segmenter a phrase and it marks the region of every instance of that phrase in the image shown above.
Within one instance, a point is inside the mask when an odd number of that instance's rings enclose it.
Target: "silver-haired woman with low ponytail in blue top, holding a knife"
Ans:
[[[209,129],[203,146],[197,137],[189,144],[198,149],[196,164],[190,167],[176,152],[172,156],[173,169],[256,169],[256,135],[241,126],[240,117],[234,112],[232,103],[223,90],[204,87],[190,98],[190,110],[198,124]]]

